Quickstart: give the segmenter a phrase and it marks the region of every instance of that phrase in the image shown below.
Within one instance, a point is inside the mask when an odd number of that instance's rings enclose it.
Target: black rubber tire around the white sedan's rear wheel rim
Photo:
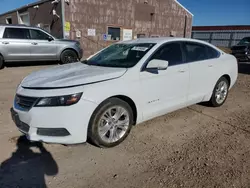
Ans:
[[[222,82],[226,83],[226,85],[227,85],[226,91],[227,91],[227,92],[226,92],[226,96],[225,96],[224,100],[223,100],[222,102],[219,103],[219,102],[216,100],[216,91],[217,91],[217,89],[218,89],[219,84],[222,83]],[[222,105],[225,103],[225,101],[227,100],[228,90],[229,90],[229,82],[228,82],[228,80],[227,80],[225,77],[221,77],[221,78],[217,81],[217,83],[216,83],[216,85],[215,85],[215,87],[214,87],[213,94],[212,94],[212,97],[211,97],[211,99],[210,99],[210,101],[209,101],[209,104],[210,104],[211,106],[213,106],[213,107],[222,106]]]

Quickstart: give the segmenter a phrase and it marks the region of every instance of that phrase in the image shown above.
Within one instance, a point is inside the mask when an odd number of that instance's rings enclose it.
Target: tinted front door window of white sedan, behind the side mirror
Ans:
[[[183,63],[181,45],[179,43],[166,44],[151,59],[168,61],[169,66],[181,64]]]

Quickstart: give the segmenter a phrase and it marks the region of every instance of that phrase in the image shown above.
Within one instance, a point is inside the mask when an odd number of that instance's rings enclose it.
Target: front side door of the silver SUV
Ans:
[[[31,58],[33,60],[57,60],[56,42],[40,29],[29,29],[31,36]]]

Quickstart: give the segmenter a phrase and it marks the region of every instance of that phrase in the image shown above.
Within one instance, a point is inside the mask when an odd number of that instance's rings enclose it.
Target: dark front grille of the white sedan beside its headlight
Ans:
[[[23,110],[30,110],[38,98],[16,95],[15,103]]]

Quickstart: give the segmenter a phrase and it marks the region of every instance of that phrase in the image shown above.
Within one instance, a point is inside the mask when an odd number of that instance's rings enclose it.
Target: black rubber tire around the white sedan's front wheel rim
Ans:
[[[99,135],[99,122],[101,121],[102,115],[106,112],[106,110],[114,107],[114,106],[121,106],[124,108],[129,115],[129,125],[125,132],[125,134],[116,142],[108,143],[104,141],[101,136]],[[121,142],[123,142],[127,136],[129,135],[131,128],[133,126],[133,111],[132,108],[128,103],[125,101],[118,99],[118,98],[110,98],[104,101],[100,104],[100,106],[95,110],[93,113],[89,126],[88,126],[88,141],[96,146],[102,147],[102,148],[111,148],[114,146],[119,145]]]

